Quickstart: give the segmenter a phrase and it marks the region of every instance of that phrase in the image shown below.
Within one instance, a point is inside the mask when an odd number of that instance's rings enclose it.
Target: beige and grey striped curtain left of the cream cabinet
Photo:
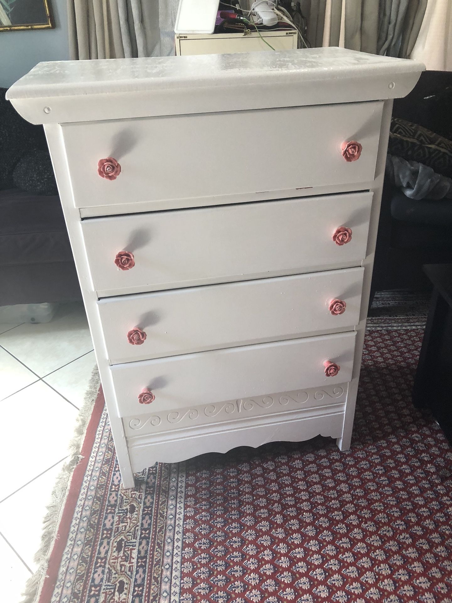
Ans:
[[[174,54],[178,0],[67,0],[71,58]]]

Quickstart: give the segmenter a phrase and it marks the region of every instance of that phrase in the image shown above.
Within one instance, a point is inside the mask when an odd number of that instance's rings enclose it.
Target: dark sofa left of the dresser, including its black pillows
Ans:
[[[20,117],[5,92],[0,88],[0,306],[77,300],[43,128]]]

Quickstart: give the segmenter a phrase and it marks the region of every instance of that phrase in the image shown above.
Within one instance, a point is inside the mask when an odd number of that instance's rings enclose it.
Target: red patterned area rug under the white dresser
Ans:
[[[123,490],[99,395],[36,601],[451,603],[452,449],[410,402],[426,309],[375,299],[347,452],[242,447]]]

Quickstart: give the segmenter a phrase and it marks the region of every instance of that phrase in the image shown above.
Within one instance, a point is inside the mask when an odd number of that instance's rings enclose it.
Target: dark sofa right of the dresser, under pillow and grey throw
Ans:
[[[406,98],[394,101],[392,115],[442,134],[452,131],[451,109],[452,73],[425,71]],[[429,289],[422,265],[450,262],[452,200],[413,200],[385,182],[372,293]]]

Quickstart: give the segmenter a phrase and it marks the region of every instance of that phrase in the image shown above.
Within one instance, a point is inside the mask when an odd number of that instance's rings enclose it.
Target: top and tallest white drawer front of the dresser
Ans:
[[[372,182],[383,103],[63,125],[76,207]],[[358,160],[341,145],[357,140]],[[98,174],[113,157],[115,180]]]

